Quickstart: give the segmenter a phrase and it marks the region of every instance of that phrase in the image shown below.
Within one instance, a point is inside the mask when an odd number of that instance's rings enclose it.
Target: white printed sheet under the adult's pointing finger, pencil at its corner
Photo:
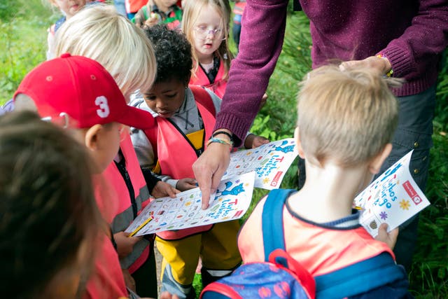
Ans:
[[[248,172],[221,181],[207,210],[201,208],[199,188],[179,193],[176,198],[153,200],[125,232],[131,233],[140,228],[135,236],[148,235],[241,218],[251,204],[254,178],[255,172]]]

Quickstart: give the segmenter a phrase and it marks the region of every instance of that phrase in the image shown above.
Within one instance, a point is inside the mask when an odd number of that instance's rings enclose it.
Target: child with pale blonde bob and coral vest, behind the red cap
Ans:
[[[67,21],[57,38],[57,55],[72,53],[102,63],[127,100],[132,92],[146,90],[154,81],[155,57],[151,42],[113,6],[85,8]],[[148,204],[149,193],[162,197],[174,196],[179,191],[155,179],[149,171],[141,173],[129,134],[120,142],[120,151],[107,167],[104,177],[113,184],[118,196],[118,211],[113,215],[111,228],[127,286],[139,295],[155,298],[157,277],[153,238],[127,237],[123,231]]]

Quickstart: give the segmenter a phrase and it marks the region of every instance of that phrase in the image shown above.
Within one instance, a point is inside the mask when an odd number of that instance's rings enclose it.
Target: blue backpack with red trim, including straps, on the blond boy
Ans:
[[[405,278],[405,272],[395,265],[388,253],[312,277],[285,250],[283,205],[294,191],[271,190],[263,206],[265,261],[241,265],[230,276],[206,286],[200,295],[201,299],[338,299],[365,293]]]

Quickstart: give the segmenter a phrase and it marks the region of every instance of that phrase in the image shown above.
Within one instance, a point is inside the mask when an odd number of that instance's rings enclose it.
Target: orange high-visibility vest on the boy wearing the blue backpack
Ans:
[[[262,237],[262,205],[255,207],[238,236],[238,248],[244,263],[265,260]],[[362,226],[353,229],[323,228],[292,216],[283,208],[286,251],[311,275],[327,274],[383,252],[393,256],[384,242],[375,240]]]

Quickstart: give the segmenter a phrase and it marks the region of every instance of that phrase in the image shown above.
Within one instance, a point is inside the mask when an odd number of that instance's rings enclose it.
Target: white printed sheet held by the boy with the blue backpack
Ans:
[[[362,209],[360,223],[373,237],[381,223],[393,230],[430,204],[409,172],[411,155],[395,162],[354,200]]]

